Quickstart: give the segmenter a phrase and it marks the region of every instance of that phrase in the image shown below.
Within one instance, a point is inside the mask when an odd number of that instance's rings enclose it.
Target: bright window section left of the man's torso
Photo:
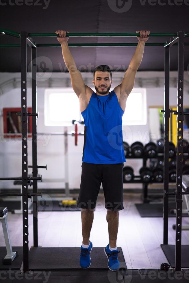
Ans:
[[[72,126],[72,120],[83,121],[79,99],[71,87],[45,89],[44,106],[45,126]]]

